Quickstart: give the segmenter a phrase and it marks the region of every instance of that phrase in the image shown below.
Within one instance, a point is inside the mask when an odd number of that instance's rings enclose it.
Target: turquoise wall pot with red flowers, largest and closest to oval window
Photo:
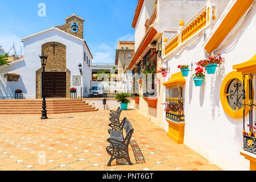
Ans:
[[[206,60],[201,60],[196,63],[200,67],[204,67],[208,74],[214,74],[218,65],[224,63],[225,59],[220,54],[217,56],[209,56]]]

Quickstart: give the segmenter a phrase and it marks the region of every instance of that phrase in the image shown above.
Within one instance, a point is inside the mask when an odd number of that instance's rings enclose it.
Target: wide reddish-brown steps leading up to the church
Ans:
[[[81,99],[46,100],[48,114],[97,111]],[[41,114],[42,100],[0,100],[0,114]]]

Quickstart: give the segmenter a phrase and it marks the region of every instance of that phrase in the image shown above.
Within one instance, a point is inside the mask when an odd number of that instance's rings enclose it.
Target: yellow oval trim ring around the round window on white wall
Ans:
[[[238,80],[240,80],[241,82],[243,82],[243,76],[242,73],[240,72],[230,72],[222,81],[222,85],[221,85],[221,91],[220,91],[220,99],[221,99],[221,104],[222,107],[225,111],[226,114],[229,115],[229,117],[231,118],[242,118],[243,117],[243,109],[241,108],[240,110],[236,111],[233,110],[228,103],[228,100],[226,99],[226,90],[228,89],[228,86],[230,84],[231,81],[233,81],[235,78],[237,78]],[[249,93],[249,78],[246,76],[245,77],[245,93],[246,95]],[[246,103],[249,102],[249,97],[246,97]],[[245,109],[245,115],[247,115],[249,113],[249,109],[248,107],[246,107]]]

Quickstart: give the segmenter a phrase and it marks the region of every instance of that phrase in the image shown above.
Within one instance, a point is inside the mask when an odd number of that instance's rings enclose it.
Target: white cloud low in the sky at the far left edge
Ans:
[[[20,41],[21,39],[14,34],[7,33],[7,34],[0,35],[0,46],[2,46],[3,49],[5,49],[5,52],[10,51],[14,43],[17,54],[20,55],[20,46],[22,46],[22,54],[23,54],[23,43]],[[13,50],[11,50],[9,55],[13,55]]]

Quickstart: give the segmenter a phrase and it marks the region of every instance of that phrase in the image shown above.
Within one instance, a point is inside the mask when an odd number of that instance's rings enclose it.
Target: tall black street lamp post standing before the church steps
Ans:
[[[42,54],[42,56],[39,56],[41,59],[41,63],[42,63],[42,68],[43,68],[43,72],[42,72],[42,94],[43,94],[43,104],[42,104],[42,117],[41,119],[48,119],[47,117],[47,110],[46,110],[46,90],[45,90],[45,83],[44,83],[44,73],[45,73],[45,68],[46,68],[46,62],[47,62],[47,57],[44,52]]]

